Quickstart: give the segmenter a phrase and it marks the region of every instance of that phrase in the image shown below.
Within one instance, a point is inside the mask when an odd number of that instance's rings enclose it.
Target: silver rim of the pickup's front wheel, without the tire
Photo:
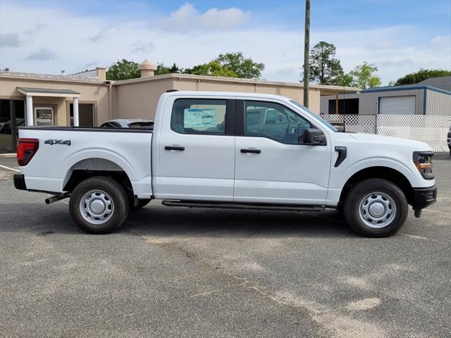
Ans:
[[[371,192],[360,202],[359,215],[369,227],[386,227],[396,216],[395,201],[383,192]]]

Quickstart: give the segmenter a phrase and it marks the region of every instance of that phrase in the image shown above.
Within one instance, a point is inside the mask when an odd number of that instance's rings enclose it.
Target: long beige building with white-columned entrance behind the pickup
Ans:
[[[159,96],[171,89],[277,94],[301,104],[304,96],[301,83],[188,74],[154,76],[154,70],[156,65],[145,60],[140,78],[121,81],[106,80],[105,68],[73,75],[0,72],[0,154],[15,151],[20,125],[91,127],[113,118],[153,120]],[[342,91],[343,87],[311,84],[309,108],[320,113],[321,96]]]

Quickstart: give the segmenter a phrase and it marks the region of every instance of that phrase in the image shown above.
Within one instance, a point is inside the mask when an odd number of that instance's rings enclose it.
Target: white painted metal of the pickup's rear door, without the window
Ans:
[[[165,94],[163,94],[163,97]],[[235,137],[226,135],[179,134],[171,130],[171,112],[180,95],[167,95],[157,108],[152,149],[154,196],[157,199],[233,201]],[[235,99],[234,96],[189,95],[190,99]],[[160,101],[161,103],[161,101]],[[161,111],[160,111],[161,109]],[[183,145],[185,151],[167,151],[165,146]]]

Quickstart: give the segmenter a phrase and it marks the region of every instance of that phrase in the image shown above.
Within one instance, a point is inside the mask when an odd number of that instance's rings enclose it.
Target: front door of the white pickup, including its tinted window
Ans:
[[[330,146],[299,144],[314,125],[282,102],[236,106],[234,201],[324,205]]]

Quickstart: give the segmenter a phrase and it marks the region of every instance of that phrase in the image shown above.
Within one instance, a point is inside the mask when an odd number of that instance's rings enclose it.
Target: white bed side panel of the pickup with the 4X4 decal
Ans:
[[[78,132],[59,128],[39,129],[41,128],[20,130],[20,137],[39,139],[37,154],[30,163],[20,167],[21,173],[25,175],[27,189],[63,192],[72,170],[80,169],[80,163],[89,170],[106,170],[104,165],[96,165],[96,161],[91,163],[85,161],[103,159],[116,165],[116,170],[123,170],[128,175],[138,198],[152,196],[150,165],[152,133],[124,132],[124,130]],[[45,144],[47,139],[70,139],[70,146]]]

